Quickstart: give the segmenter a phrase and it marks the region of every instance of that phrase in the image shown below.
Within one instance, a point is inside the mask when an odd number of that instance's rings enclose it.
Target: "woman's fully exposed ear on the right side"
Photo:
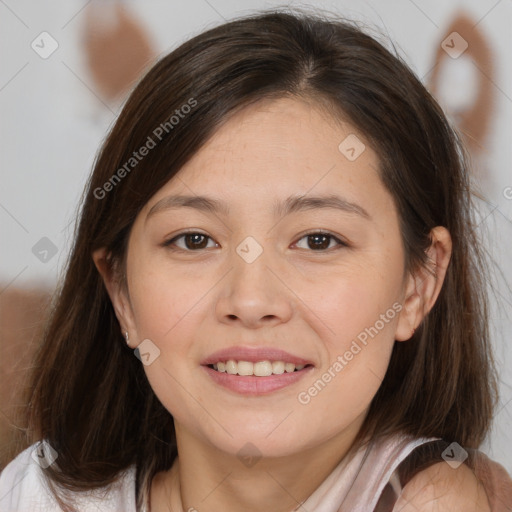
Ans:
[[[452,239],[449,231],[436,226],[430,232],[432,243],[426,253],[428,268],[420,268],[409,274],[405,283],[403,309],[397,322],[395,340],[406,341],[434,306],[452,254]]]

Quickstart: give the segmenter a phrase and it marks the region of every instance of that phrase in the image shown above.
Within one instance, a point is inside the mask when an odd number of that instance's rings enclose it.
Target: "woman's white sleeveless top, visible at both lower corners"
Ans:
[[[360,449],[345,458],[302,504],[315,512],[369,512],[393,471],[417,446],[432,439],[393,436],[371,450]],[[20,453],[0,474],[0,512],[60,512],[43,475],[50,455],[36,443]],[[51,450],[51,448],[50,448]],[[74,493],[77,512],[138,512],[135,506],[135,466],[120,474],[110,487]],[[144,507],[146,509],[146,507]],[[296,510],[300,508],[300,505]],[[146,512],[146,510],[142,511]]]

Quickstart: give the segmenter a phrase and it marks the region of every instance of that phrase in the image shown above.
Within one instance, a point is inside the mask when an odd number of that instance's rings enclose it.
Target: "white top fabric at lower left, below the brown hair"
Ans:
[[[60,511],[44,470],[58,461],[58,454],[47,443],[35,443],[0,473],[0,510],[31,512]],[[69,491],[65,495],[81,511],[135,512],[135,467],[120,473],[118,480],[94,491]]]

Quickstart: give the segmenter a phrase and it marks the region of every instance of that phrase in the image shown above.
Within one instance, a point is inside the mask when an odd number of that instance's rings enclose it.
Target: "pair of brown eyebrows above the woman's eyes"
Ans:
[[[222,214],[226,217],[230,211],[227,203],[219,199],[207,196],[170,195],[160,199],[151,207],[146,216],[146,221],[158,212],[182,207],[194,208],[206,213]],[[371,219],[371,215],[362,206],[332,194],[326,196],[290,196],[283,202],[275,202],[273,213],[276,217],[284,217],[290,213],[323,208],[337,209],[359,215],[368,220]]]

